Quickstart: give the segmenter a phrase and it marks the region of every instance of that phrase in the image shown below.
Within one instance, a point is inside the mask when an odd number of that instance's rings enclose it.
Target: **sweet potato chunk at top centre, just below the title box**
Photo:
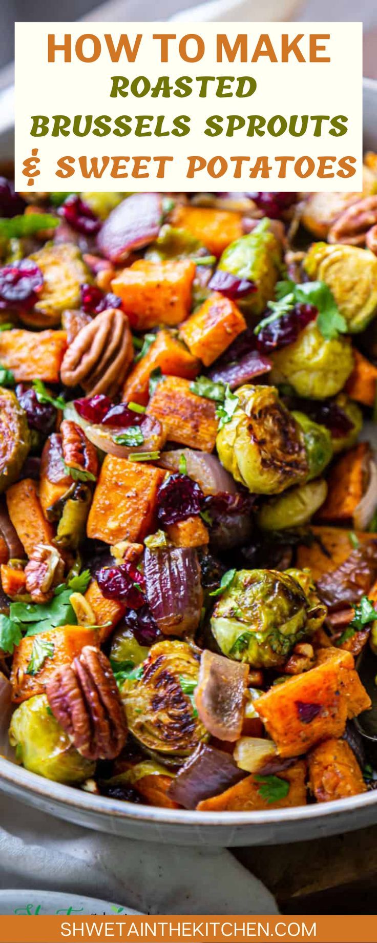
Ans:
[[[214,256],[221,256],[230,242],[243,236],[241,214],[228,209],[176,205],[171,223],[178,229],[187,229]]]

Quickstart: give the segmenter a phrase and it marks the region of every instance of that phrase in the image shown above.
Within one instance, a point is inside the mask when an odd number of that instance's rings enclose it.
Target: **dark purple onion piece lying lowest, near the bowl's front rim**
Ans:
[[[229,753],[201,744],[172,780],[169,795],[185,809],[195,809],[198,802],[220,796],[247,775]]]

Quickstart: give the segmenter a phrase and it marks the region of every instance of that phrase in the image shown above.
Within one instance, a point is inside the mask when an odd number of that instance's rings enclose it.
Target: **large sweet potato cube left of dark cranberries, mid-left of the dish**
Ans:
[[[164,477],[162,469],[107,455],[90,507],[88,537],[110,544],[143,540],[153,527]]]

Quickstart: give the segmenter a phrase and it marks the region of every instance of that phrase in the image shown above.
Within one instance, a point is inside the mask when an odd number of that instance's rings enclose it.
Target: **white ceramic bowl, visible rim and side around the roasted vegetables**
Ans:
[[[377,151],[377,82],[364,82],[364,144]],[[0,139],[1,149],[1,139]],[[3,149],[4,159],[9,158]],[[336,835],[377,822],[377,790],[352,799],[264,812],[188,812],[134,805],[52,783],[0,758],[0,789],[59,819],[179,845],[266,845]]]

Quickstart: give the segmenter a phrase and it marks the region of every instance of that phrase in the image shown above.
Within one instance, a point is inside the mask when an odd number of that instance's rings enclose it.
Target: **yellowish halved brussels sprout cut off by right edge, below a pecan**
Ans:
[[[310,278],[325,282],[351,334],[369,324],[377,311],[377,258],[369,249],[316,242],[304,259]]]

